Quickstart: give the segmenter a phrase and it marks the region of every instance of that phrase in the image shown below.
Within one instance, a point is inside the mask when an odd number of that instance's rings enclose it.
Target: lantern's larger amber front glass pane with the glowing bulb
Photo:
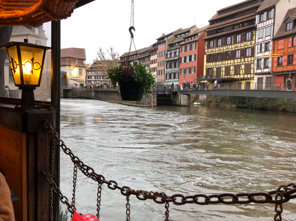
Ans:
[[[25,85],[38,85],[44,49],[20,46]]]

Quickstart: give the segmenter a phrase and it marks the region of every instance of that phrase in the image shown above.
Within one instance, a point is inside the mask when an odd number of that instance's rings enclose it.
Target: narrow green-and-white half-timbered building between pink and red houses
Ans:
[[[179,83],[180,43],[196,29],[196,25],[181,29],[174,33],[174,37],[170,39],[171,41],[167,42],[165,82],[168,84]]]

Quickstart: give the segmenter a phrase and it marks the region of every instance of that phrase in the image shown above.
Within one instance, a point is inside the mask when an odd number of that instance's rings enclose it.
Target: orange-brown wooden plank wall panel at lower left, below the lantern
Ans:
[[[14,201],[16,221],[27,217],[27,162],[26,133],[20,133],[0,125],[0,169],[6,175],[9,188],[21,201]]]

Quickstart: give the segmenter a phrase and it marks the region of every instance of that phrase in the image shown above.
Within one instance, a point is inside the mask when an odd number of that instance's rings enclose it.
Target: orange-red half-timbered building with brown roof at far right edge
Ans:
[[[286,80],[290,77],[295,83],[296,77],[296,8],[289,9],[283,22],[273,38],[274,57],[272,65],[272,87],[287,90]],[[292,84],[295,90],[295,84]]]

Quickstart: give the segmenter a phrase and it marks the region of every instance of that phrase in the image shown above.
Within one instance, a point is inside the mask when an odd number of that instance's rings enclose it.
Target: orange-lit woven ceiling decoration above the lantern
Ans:
[[[31,25],[70,17],[78,0],[0,0],[0,27]]]

